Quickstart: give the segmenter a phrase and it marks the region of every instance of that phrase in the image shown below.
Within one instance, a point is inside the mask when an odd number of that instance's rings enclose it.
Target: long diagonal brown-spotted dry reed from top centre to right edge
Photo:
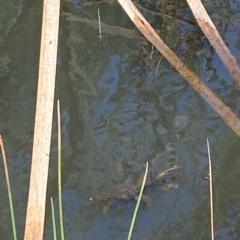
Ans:
[[[207,87],[205,83],[172,52],[162,41],[142,14],[130,0],[118,0],[130,19],[141,33],[158,49],[159,52],[176,68],[192,87],[213,107],[223,120],[240,137],[239,118]]]

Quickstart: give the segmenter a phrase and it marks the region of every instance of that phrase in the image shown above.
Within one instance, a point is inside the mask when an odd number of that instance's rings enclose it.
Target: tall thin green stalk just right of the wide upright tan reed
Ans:
[[[59,216],[61,239],[64,240],[64,226],[63,226],[63,209],[62,209],[62,155],[61,155],[61,117],[60,117],[60,102],[57,101],[57,116],[58,116],[58,202],[59,202]]]

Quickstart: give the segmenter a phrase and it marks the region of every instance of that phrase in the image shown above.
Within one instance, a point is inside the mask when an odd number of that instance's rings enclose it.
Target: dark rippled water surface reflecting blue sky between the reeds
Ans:
[[[239,114],[239,91],[231,77],[187,5],[173,3],[143,1],[141,6],[167,14],[164,17],[142,9],[174,52]],[[240,2],[204,4],[239,60]],[[28,0],[0,0],[0,5],[0,133],[7,146],[17,230],[22,239],[42,7],[40,1]],[[72,1],[63,5],[68,16],[60,17],[56,99],[60,99],[62,111],[66,239],[126,239],[134,207],[115,206],[103,215],[103,203],[90,207],[84,203],[90,197],[137,185],[146,161],[150,172],[179,163],[178,188],[153,188],[147,193],[151,205],[140,208],[133,239],[210,239],[209,138],[216,239],[236,240],[240,231],[238,137],[159,53],[152,52],[117,3]],[[104,35],[101,41],[92,19],[97,19],[98,8]],[[168,18],[175,14],[177,19]],[[83,22],[85,19],[88,21]],[[58,204],[55,115],[52,139],[45,239],[52,239],[50,196],[56,208]],[[12,239],[0,164],[1,239]]]

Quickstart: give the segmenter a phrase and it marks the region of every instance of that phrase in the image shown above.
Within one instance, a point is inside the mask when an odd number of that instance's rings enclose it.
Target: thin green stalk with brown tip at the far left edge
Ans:
[[[16,223],[15,223],[15,216],[14,216],[11,184],[10,184],[10,178],[9,178],[9,173],[8,173],[6,152],[5,152],[4,143],[3,143],[3,139],[2,139],[1,135],[0,135],[0,148],[1,148],[2,156],[3,156],[3,165],[4,165],[5,175],[6,175],[8,199],[9,199],[9,206],[10,206],[11,219],[12,219],[13,239],[17,240],[17,230],[16,230]]]

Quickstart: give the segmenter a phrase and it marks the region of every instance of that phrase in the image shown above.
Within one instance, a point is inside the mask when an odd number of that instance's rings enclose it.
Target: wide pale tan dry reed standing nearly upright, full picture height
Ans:
[[[59,0],[44,0],[32,166],[25,240],[42,240],[52,132]]]

